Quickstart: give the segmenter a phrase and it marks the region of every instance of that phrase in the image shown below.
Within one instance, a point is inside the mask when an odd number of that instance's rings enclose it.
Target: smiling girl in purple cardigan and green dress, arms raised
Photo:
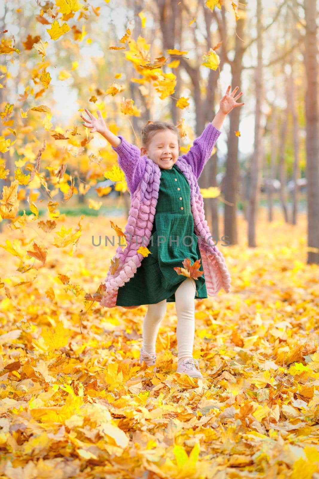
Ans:
[[[195,334],[194,298],[214,296],[221,287],[230,292],[230,275],[210,235],[203,209],[198,178],[220,136],[226,115],[237,106],[242,95],[238,87],[220,100],[214,120],[204,129],[186,155],[178,156],[178,129],[167,122],[147,122],[142,130],[142,148],[128,143],[108,130],[99,110],[95,118],[86,108],[89,119],[80,115],[83,125],[99,132],[118,154],[131,194],[131,209],[125,228],[127,246],[119,246],[105,278],[105,295],[101,305],[127,309],[148,305],[143,320],[143,345],[140,362],[155,365],[155,342],[167,302],[176,303],[177,372],[203,377],[198,361],[193,359]],[[141,156],[142,153],[142,156]],[[143,257],[137,250],[147,247],[151,254]],[[175,267],[183,261],[201,260],[196,281],[177,274]],[[143,261],[142,261],[143,260]],[[205,276],[204,276],[205,275]]]

